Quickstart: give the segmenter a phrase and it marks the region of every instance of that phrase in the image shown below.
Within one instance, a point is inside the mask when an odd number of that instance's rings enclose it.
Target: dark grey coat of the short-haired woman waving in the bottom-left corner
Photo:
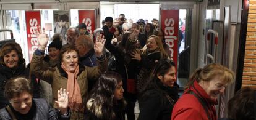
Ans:
[[[33,120],[41,120],[41,119],[50,119],[50,120],[57,120],[57,119],[63,119],[63,120],[69,120],[70,113],[67,114],[67,116],[61,115],[58,110],[51,108],[50,105],[46,102],[45,99],[33,99],[33,103],[35,103],[35,114],[33,116]],[[32,105],[33,106],[33,105]],[[12,110],[12,112],[15,114],[16,111]],[[19,117],[18,114],[15,114],[15,118],[23,120]],[[11,116],[6,110],[6,108],[2,108],[0,110],[0,119],[2,120],[11,120]]]

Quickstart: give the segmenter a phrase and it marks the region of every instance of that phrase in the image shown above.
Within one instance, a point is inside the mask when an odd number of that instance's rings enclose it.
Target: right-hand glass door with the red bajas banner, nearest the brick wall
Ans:
[[[195,4],[196,2],[160,2],[160,25],[164,29],[166,42],[173,52],[173,60],[177,65],[177,84],[179,84],[181,90],[186,86],[189,74],[195,69],[195,65],[197,64],[194,60],[194,58],[197,58],[194,56],[197,51],[197,47],[195,47],[197,43],[197,41],[195,41],[196,36],[191,36],[191,34],[197,34],[193,31],[195,28],[194,17],[196,15],[194,12]],[[167,11],[167,13],[164,12],[164,10]],[[174,14],[171,15],[170,13],[168,14],[168,12]],[[168,17],[173,16],[173,18],[174,16],[178,17],[173,21],[174,24],[178,25],[171,26],[174,27],[172,28],[173,31],[176,30],[176,33],[173,33],[177,34],[176,39],[169,39],[169,41],[168,38],[172,37],[169,36],[170,34],[167,34],[170,26],[164,26],[166,22],[161,20],[161,18],[166,18],[166,15]]]

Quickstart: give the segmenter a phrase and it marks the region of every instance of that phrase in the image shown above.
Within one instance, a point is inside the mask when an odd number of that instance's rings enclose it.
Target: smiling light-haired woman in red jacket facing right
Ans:
[[[218,95],[223,94],[227,84],[233,81],[233,71],[220,64],[198,68],[190,77],[184,95],[175,104],[171,119],[216,120]]]

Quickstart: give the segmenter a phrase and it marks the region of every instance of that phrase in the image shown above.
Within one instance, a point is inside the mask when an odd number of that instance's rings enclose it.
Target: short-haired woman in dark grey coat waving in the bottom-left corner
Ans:
[[[69,119],[67,111],[68,93],[66,90],[58,90],[59,110],[49,106],[45,99],[32,98],[32,86],[26,78],[18,77],[9,79],[6,83],[4,94],[10,101],[10,105],[0,110],[0,119]]]

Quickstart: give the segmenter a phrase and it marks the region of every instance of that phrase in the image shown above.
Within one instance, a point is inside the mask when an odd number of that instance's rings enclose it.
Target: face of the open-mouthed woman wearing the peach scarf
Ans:
[[[61,64],[64,65],[67,71],[74,73],[75,68],[77,68],[79,62],[79,56],[75,50],[71,50],[70,52],[66,51],[63,54]]]

